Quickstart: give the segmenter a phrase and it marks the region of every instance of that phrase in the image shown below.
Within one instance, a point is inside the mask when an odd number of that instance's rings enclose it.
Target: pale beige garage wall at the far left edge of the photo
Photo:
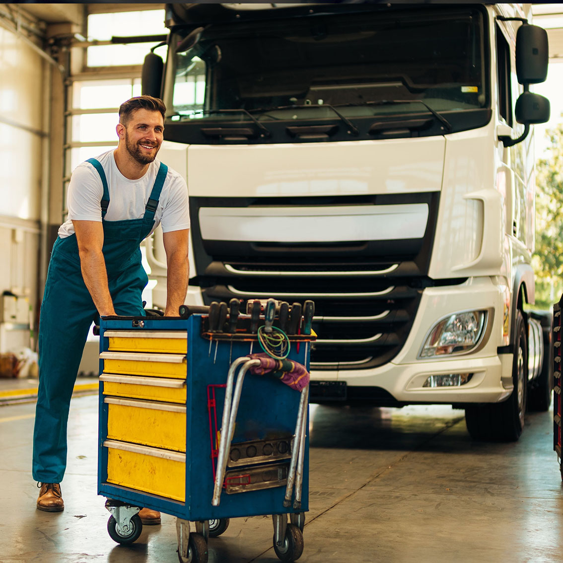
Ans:
[[[32,316],[38,307],[47,72],[48,62],[32,46],[0,27],[0,294],[27,298]],[[12,341],[0,339],[0,352]]]

